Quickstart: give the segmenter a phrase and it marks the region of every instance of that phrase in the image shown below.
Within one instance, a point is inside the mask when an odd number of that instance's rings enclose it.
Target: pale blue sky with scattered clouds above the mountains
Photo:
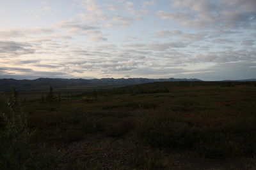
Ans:
[[[256,78],[255,0],[0,4],[0,78]]]

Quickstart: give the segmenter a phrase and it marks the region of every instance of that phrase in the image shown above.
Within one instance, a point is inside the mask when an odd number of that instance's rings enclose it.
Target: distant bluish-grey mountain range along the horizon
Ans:
[[[127,86],[141,83],[163,82],[163,81],[202,81],[196,78],[100,78],[100,79],[65,79],[65,78],[38,78],[36,80],[15,80],[12,78],[0,79],[0,91],[9,91],[12,87],[17,90],[42,90],[63,87],[96,87],[96,86]]]

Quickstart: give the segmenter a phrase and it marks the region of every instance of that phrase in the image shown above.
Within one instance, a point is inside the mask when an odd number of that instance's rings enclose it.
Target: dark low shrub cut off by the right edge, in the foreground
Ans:
[[[201,131],[195,150],[203,157],[253,157],[256,154],[256,118]]]

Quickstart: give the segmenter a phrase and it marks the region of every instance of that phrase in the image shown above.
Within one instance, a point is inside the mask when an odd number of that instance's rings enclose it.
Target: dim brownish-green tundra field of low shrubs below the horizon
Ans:
[[[58,91],[51,103],[47,92],[45,101],[24,101],[30,167],[256,168],[253,83],[148,83],[66,97]]]

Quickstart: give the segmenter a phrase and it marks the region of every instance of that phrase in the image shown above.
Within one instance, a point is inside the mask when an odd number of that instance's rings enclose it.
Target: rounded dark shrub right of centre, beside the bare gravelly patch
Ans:
[[[143,141],[165,148],[191,148],[196,138],[196,129],[191,122],[162,112],[144,117],[137,132]]]

